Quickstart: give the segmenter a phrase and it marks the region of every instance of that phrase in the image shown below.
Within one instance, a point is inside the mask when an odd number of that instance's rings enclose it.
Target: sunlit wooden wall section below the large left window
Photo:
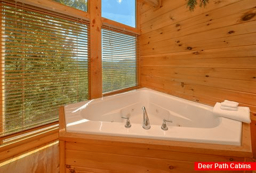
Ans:
[[[58,173],[59,172],[59,145],[54,144],[43,150],[25,156],[0,167],[5,173]]]

